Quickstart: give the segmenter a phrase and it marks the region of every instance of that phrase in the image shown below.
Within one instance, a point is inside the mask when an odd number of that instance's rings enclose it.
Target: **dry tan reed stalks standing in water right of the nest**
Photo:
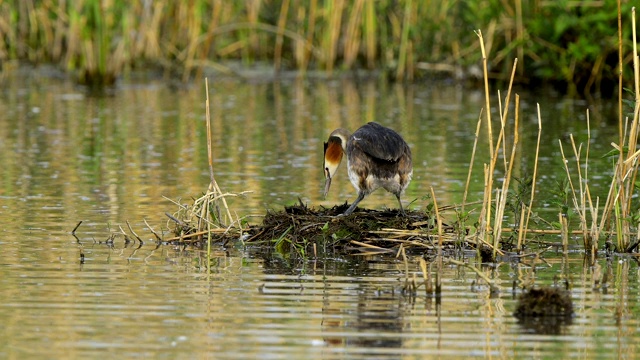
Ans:
[[[633,49],[631,57],[633,58],[633,83],[634,83],[634,101],[627,103],[632,104],[633,112],[632,118],[626,117],[623,119],[622,103],[624,98],[622,92],[620,92],[620,143],[612,143],[614,148],[614,154],[616,161],[613,163],[613,175],[611,179],[611,186],[606,201],[601,202],[599,198],[592,198],[589,188],[589,143],[591,140],[591,131],[589,124],[589,113],[587,112],[586,127],[588,129],[587,143],[576,144],[573,135],[570,135],[570,154],[569,157],[565,154],[566,145],[560,141],[560,151],[562,154],[562,162],[565,167],[565,172],[568,180],[568,197],[571,199],[573,205],[571,212],[577,214],[578,222],[575,225],[571,225],[567,220],[569,214],[560,212],[558,214],[558,226],[560,227],[559,233],[561,234],[561,245],[565,253],[568,251],[568,242],[570,234],[579,234],[582,238],[583,249],[590,257],[590,264],[595,263],[598,250],[602,249],[602,240],[604,240],[607,249],[617,251],[620,253],[628,253],[635,251],[640,242],[640,207],[637,204],[637,199],[634,198],[634,191],[636,190],[636,181],[638,167],[640,166],[640,150],[637,149],[638,138],[638,117],[640,112],[640,69],[638,65],[638,53],[637,53],[637,39],[636,39],[636,19],[635,8],[631,11],[630,19],[633,35]],[[620,38],[622,37],[622,29],[619,29]],[[514,61],[513,69],[511,72],[511,78],[509,81],[509,87],[507,90],[504,103],[499,104],[500,118],[500,131],[494,136],[492,128],[491,111],[491,96],[489,91],[488,72],[487,72],[487,56],[485,52],[485,43],[482,32],[477,31],[478,38],[480,40],[480,49],[483,57],[483,70],[484,70],[484,86],[485,86],[485,105],[486,108],[481,112],[481,117],[478,122],[478,129],[476,131],[476,144],[477,138],[480,135],[480,127],[482,122],[482,114],[484,114],[484,126],[486,127],[486,136],[488,138],[488,153],[489,159],[484,166],[484,179],[485,179],[485,192],[482,207],[479,211],[480,216],[477,227],[476,236],[479,241],[483,241],[489,244],[493,249],[492,258],[496,258],[496,251],[500,249],[503,232],[503,224],[505,221],[505,207],[507,205],[508,194],[513,189],[510,189],[510,183],[512,179],[513,163],[515,160],[515,154],[518,147],[518,122],[519,122],[519,97],[515,96],[515,103],[513,105],[515,113],[513,114],[513,122],[507,123],[509,114],[509,103],[511,99],[511,85],[513,84],[513,78],[516,71],[517,59]],[[626,57],[623,53],[623,43],[619,45],[619,59]],[[620,60],[619,65],[622,66],[623,62]],[[620,70],[619,87],[622,89],[623,71]],[[498,98],[501,99],[500,93]],[[509,127],[512,132],[507,132]],[[529,229],[529,218],[531,216],[532,207],[534,206],[535,196],[535,184],[537,176],[537,161],[540,148],[540,133],[542,132],[542,119],[540,118],[540,108],[538,105],[538,143],[536,150],[535,163],[533,164],[533,179],[531,182],[531,198],[528,204],[521,201],[519,204],[520,217],[518,223],[514,224],[514,228],[518,229],[518,243],[516,246],[516,252],[523,251],[527,244],[527,233],[531,233],[533,230]],[[509,136],[508,136],[509,135]],[[510,142],[511,149],[506,144]],[[475,157],[476,146],[473,147],[474,152],[472,154],[472,161]],[[500,161],[502,159],[502,161]],[[501,163],[501,169],[497,169],[497,164]],[[499,170],[499,171],[498,171]],[[496,183],[495,176],[497,173],[503,175],[501,183]],[[472,169],[469,170],[469,179],[472,176]],[[467,181],[467,186],[469,180]],[[467,190],[465,190],[465,194]],[[494,198],[495,197],[495,198]],[[465,196],[466,201],[466,196]],[[604,206],[601,207],[600,205]],[[577,230],[570,229],[570,226],[576,226]],[[551,229],[548,231],[552,233]],[[605,238],[603,239],[603,235]],[[611,239],[615,239],[611,241]]]

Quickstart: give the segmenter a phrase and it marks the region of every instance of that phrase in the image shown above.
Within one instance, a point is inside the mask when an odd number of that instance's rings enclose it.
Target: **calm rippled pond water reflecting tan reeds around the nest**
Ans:
[[[298,198],[312,206],[353,201],[344,165],[321,198],[322,143],[336,127],[371,120],[398,130],[412,148],[409,208],[424,208],[430,187],[440,205],[462,201],[482,92],[295,79],[211,79],[210,88],[216,177],[223,191],[252,191],[230,199],[250,222]],[[617,141],[615,101],[518,91],[516,176],[532,169],[536,103],[542,112],[541,216],[557,217],[558,139],[567,154],[569,134],[587,141],[587,109],[592,195],[606,196],[611,165],[602,155]],[[206,254],[156,245],[144,220],[166,232],[164,213],[176,210],[167,199],[188,202],[209,182],[204,99],[203,81],[175,89],[141,77],[92,95],[42,70],[2,80],[0,357],[634,358],[640,351],[634,258],[601,256],[589,267],[579,252],[551,251],[535,274],[527,263],[481,267],[497,294],[473,271],[448,265],[436,301],[420,289],[403,293],[404,263],[392,256],[292,263],[237,243],[214,247],[207,272]],[[492,101],[497,107],[497,96]],[[482,193],[484,130],[478,146],[470,201]],[[361,206],[396,202],[379,191]],[[70,232],[80,220],[77,241]],[[144,245],[107,241],[126,221]],[[410,275],[421,277],[410,264]],[[513,282],[528,276],[539,285],[569,279],[571,324],[539,331],[513,317]]]

